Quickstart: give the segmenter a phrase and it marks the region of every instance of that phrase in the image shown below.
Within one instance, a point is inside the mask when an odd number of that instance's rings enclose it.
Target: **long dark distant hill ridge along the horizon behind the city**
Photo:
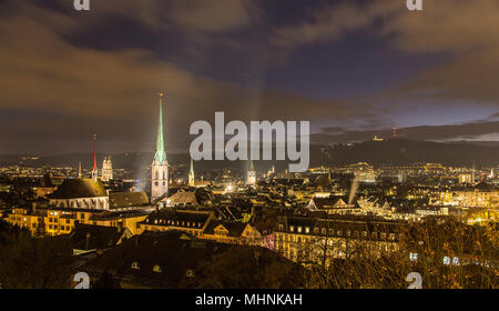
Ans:
[[[103,158],[108,154],[98,154],[98,164],[102,165]],[[187,153],[167,154],[169,162],[175,167],[189,165]],[[0,156],[0,165],[21,164],[26,167],[78,167],[81,161],[84,168],[92,164],[90,153],[71,153],[62,156],[40,157],[28,159],[27,156]],[[24,159],[23,159],[24,158]],[[129,152],[112,154],[114,168],[143,169],[151,164],[153,153]],[[365,141],[352,144],[310,146],[310,167],[342,165],[357,162],[370,164],[410,164],[416,162],[439,162],[445,165],[491,167],[499,164],[499,146],[493,142],[465,143],[465,142],[430,142],[406,139],[390,139],[386,141]],[[258,170],[267,170],[272,164],[282,171],[287,168],[286,161],[255,161]],[[244,170],[247,161],[201,161],[195,162],[196,170],[207,169],[235,169]]]

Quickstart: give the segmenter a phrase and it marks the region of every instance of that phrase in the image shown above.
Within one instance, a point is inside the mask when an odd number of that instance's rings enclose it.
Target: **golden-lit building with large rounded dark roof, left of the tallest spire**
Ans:
[[[48,202],[12,209],[7,220],[32,232],[67,234],[77,223],[123,227],[133,234],[136,223],[152,211],[145,192],[106,193],[102,181],[67,179],[48,195]]]

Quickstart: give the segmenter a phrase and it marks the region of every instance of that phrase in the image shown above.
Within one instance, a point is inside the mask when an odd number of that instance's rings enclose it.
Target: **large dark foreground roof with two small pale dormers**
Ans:
[[[115,279],[151,288],[175,287],[189,270],[228,248],[185,238],[179,231],[144,232],[106,251],[80,269],[91,275],[108,272]]]

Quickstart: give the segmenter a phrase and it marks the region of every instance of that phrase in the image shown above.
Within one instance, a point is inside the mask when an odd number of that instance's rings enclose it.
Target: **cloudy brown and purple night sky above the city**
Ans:
[[[166,149],[195,120],[310,120],[314,142],[499,141],[499,1],[0,0],[0,153]]]

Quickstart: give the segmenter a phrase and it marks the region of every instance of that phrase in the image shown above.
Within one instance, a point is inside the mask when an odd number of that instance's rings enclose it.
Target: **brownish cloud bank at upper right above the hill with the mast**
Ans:
[[[435,104],[468,100],[499,106],[499,2],[426,1],[422,12],[409,12],[399,0],[356,1],[313,9],[308,18],[274,30],[273,42],[295,50],[338,41],[355,31],[388,40],[405,53],[445,56],[438,66],[421,70],[378,94],[378,101],[428,101]]]

